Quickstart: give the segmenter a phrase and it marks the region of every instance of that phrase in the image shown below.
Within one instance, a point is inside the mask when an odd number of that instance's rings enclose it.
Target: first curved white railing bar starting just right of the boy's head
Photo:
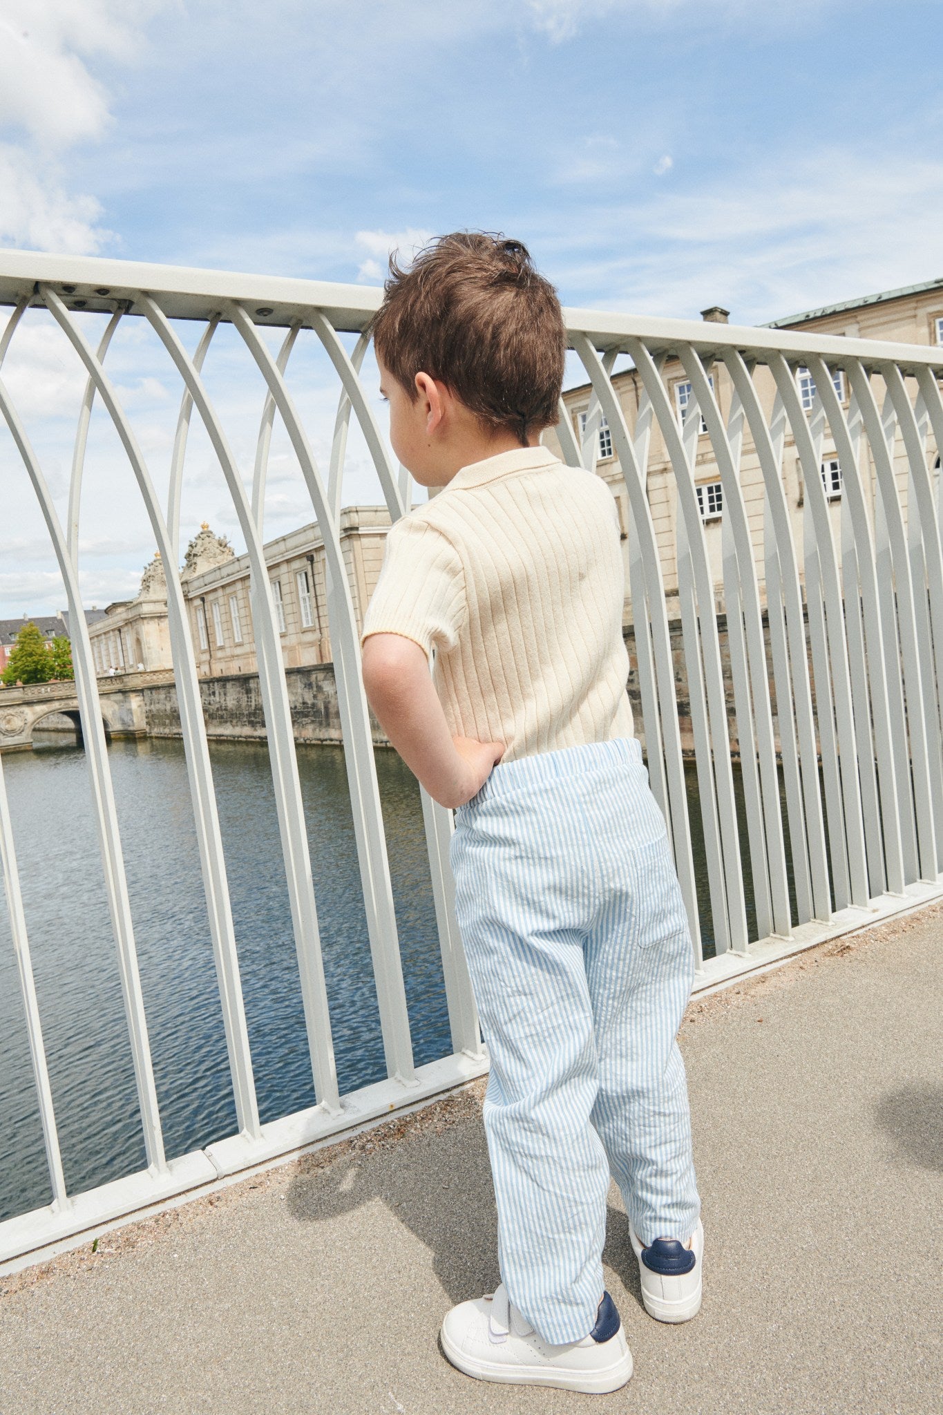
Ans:
[[[659,559],[657,539],[652,522],[652,511],[645,494],[645,484],[640,468],[635,460],[635,449],[625,422],[622,405],[609,382],[592,342],[585,334],[571,334],[571,344],[578,354],[582,366],[599,398],[599,403],[612,429],[612,439],[625,488],[629,497],[629,524],[640,545],[640,555],[635,562],[635,579],[632,580],[632,617],[639,624],[645,618],[650,625],[652,644],[655,649],[655,671],[657,675],[657,696],[663,705],[663,713],[657,715],[655,692],[643,696],[643,712],[653,708],[656,716],[645,716],[645,740],[648,744],[649,763],[655,758],[660,733],[663,733],[664,764],[667,773],[667,804],[670,807],[670,831],[674,843],[674,863],[681,883],[681,894],[687,911],[691,944],[694,948],[696,965],[703,961],[701,930],[697,908],[697,884],[694,879],[694,856],[691,852],[691,833],[687,816],[687,791],[684,785],[684,760],[681,757],[681,733],[677,720],[677,699],[674,692],[674,668],[672,662],[672,640],[667,624],[667,606],[664,600],[664,582],[662,579],[662,562]],[[575,439],[574,439],[575,443]],[[639,630],[636,627],[636,635]],[[643,659],[639,658],[639,664]],[[646,703],[649,708],[646,708]]]

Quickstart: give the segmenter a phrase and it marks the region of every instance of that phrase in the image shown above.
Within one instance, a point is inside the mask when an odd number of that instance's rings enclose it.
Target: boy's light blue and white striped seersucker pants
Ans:
[[[455,811],[451,865],[500,1275],[544,1340],[575,1341],[602,1296],[609,1174],[645,1244],[700,1213],[676,1041],[691,940],[639,743],[499,763]]]

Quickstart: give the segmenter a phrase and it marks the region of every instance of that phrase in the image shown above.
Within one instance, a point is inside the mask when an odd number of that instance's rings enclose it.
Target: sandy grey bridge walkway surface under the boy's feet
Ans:
[[[614,1193],[607,1276],[636,1374],[602,1409],[939,1408],[942,930],[936,906],[693,1005],[704,1310],[680,1329],[645,1316]],[[496,1276],[465,1092],[109,1234],[95,1255],[0,1278],[0,1407],[574,1411],[577,1397],[482,1387],[438,1354],[447,1306]]]

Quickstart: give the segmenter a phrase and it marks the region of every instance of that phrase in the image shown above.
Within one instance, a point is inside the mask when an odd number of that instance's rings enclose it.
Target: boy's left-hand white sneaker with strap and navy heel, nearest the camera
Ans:
[[[452,1307],[441,1339],[452,1365],[479,1381],[602,1394],[618,1391],[632,1375],[632,1353],[608,1292],[597,1324],[581,1341],[544,1341],[509,1302],[503,1282],[493,1296]]]

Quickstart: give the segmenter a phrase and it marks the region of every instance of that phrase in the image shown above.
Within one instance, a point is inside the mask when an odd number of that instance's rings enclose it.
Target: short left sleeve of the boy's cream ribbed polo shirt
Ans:
[[[369,634],[402,634],[428,658],[433,648],[455,647],[465,614],[465,574],[454,545],[424,516],[403,516],[387,533],[361,644]]]

